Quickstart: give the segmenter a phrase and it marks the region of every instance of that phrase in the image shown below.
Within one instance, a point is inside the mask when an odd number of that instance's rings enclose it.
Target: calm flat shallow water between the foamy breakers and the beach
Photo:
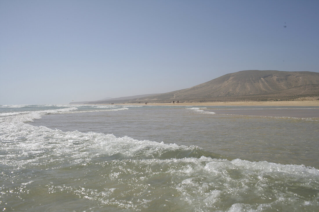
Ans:
[[[319,119],[292,118],[300,116],[296,113],[298,110],[312,110],[313,114],[319,109],[202,108],[205,109],[153,106],[112,113],[54,114],[35,120],[33,124],[63,131],[94,131],[167,144],[196,145],[234,159],[319,168]],[[263,113],[271,110],[271,115],[289,113],[290,118],[256,116],[260,110],[265,110]],[[212,111],[251,113],[252,116],[220,115],[212,114]]]

